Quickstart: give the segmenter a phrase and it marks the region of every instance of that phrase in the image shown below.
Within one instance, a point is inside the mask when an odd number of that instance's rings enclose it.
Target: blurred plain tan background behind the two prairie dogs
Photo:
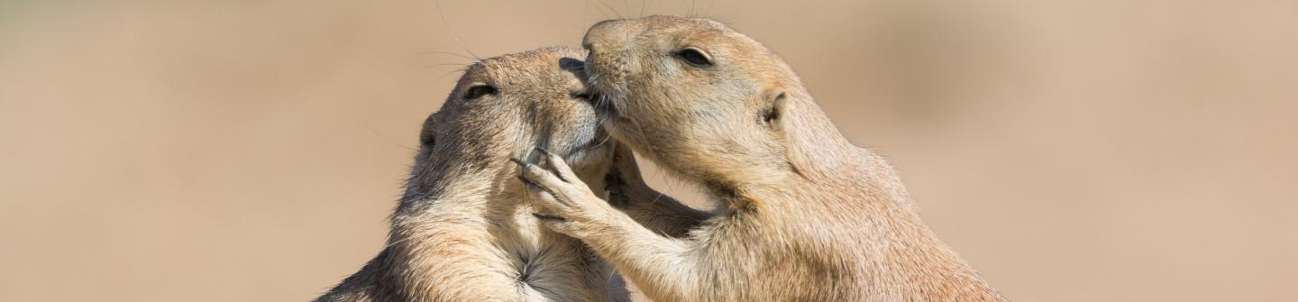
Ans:
[[[380,249],[441,52],[641,10],[781,53],[1015,301],[1298,297],[1298,1],[440,9],[0,0],[0,301],[310,299]]]

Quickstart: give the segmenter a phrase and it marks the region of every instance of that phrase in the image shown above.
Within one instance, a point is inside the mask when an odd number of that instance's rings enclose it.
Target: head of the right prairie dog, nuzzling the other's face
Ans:
[[[783,60],[710,19],[610,19],[583,39],[605,127],[705,185],[778,183],[788,162],[784,102],[805,93]],[[716,181],[716,183],[714,183]]]

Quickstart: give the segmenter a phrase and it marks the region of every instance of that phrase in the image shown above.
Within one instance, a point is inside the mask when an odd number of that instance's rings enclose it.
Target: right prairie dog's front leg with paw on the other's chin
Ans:
[[[691,301],[700,297],[700,261],[691,241],[668,238],[636,223],[600,200],[572,174],[563,158],[541,150],[545,166],[514,159],[541,223],[582,240],[650,297]]]

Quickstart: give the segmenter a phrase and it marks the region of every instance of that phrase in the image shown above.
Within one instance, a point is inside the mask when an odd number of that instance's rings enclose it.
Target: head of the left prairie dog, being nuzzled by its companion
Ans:
[[[535,158],[535,148],[563,156],[583,178],[602,174],[614,144],[588,97],[584,56],[550,47],[470,65],[423,123],[405,200],[437,193],[447,175],[511,172],[508,159]]]

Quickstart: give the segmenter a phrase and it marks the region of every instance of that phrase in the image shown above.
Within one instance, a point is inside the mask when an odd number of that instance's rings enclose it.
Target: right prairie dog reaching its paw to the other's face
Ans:
[[[522,165],[545,226],[657,301],[1005,301],[920,220],[792,69],[722,23],[605,21],[585,34],[605,128],[723,207],[685,238],[607,206],[563,158]],[[627,202],[646,202],[631,200]]]

